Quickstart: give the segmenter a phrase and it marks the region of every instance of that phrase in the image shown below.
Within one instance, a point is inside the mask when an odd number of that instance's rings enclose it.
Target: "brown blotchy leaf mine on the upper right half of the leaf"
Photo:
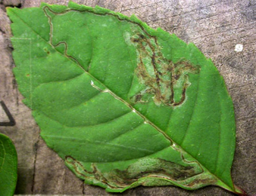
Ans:
[[[148,103],[153,96],[157,106],[179,106],[186,100],[189,87],[189,73],[198,74],[200,67],[187,60],[173,63],[161,53],[161,47],[155,37],[139,32],[130,38],[136,46],[136,75],[145,88],[130,97],[132,103]],[[176,95],[177,94],[177,95]]]

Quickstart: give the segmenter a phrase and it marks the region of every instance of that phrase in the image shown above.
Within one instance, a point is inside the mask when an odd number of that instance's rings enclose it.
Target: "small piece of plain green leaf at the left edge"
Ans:
[[[0,133],[0,195],[14,195],[17,183],[17,152],[8,136]]]

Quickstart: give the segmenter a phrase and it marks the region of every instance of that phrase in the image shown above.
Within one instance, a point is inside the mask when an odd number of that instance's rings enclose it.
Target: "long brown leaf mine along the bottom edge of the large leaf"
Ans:
[[[176,182],[186,188],[212,184],[216,179],[205,179],[204,172],[195,164],[183,166],[161,158],[141,158],[130,164],[126,170],[114,169],[111,172],[101,172],[97,164],[91,164],[91,170],[86,170],[82,162],[71,156],[66,157],[67,167],[89,184],[97,183],[101,187],[113,190],[126,190],[138,185],[175,185]],[[207,182],[206,182],[207,181]]]

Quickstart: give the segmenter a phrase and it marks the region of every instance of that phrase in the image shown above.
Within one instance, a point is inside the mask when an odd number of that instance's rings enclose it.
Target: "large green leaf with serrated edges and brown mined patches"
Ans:
[[[236,124],[194,44],[135,16],[70,2],[8,8],[14,74],[47,145],[87,184],[233,185]]]

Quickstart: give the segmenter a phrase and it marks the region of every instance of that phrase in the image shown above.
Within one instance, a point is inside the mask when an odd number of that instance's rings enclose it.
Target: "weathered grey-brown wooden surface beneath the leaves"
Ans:
[[[67,5],[66,0],[45,1]],[[236,112],[236,155],[232,176],[249,195],[256,194],[255,133],[255,62],[256,1],[252,0],[106,0],[74,1],[89,6],[100,5],[130,16],[136,14],[151,27],[160,26],[186,42],[194,42],[211,57],[233,98]],[[16,121],[15,126],[0,127],[14,141],[18,154],[17,194],[111,195],[104,189],[83,185],[48,149],[39,136],[39,127],[23,97],[11,69],[10,21],[5,6],[39,6],[40,1],[0,1],[0,101],[4,101]],[[236,44],[243,50],[235,51]],[[0,109],[0,121],[8,121]],[[207,187],[186,191],[176,187],[133,188],[121,195],[233,195],[221,188]]]

